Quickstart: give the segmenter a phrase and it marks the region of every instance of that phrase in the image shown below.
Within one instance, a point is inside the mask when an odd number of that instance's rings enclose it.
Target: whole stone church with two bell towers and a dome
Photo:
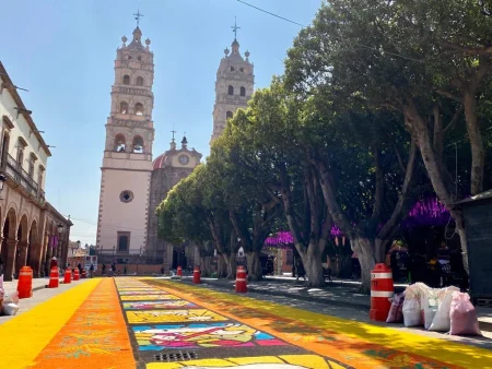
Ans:
[[[225,48],[216,71],[210,143],[220,136],[227,119],[247,106],[254,92],[249,52],[241,55],[238,27],[232,28],[231,50]],[[199,254],[192,245],[171,245],[157,238],[155,209],[200,164],[202,154],[188,147],[186,136],[178,147],[173,130],[168,150],[153,158],[153,52],[149,38],[142,44],[138,23],[132,36],[129,43],[121,37],[122,44],[116,51],[101,167],[96,246],[104,262],[159,264],[168,273],[177,265],[192,266]]]

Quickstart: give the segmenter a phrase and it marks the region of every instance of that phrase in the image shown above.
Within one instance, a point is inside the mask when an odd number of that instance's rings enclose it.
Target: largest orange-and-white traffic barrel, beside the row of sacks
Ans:
[[[376,264],[371,272],[371,320],[385,322],[388,318],[391,302],[389,299],[395,295],[393,273],[385,264]]]

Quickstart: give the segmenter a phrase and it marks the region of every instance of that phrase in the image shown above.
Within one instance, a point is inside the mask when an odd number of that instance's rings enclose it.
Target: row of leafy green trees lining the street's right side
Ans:
[[[229,119],[207,163],[157,207],[160,237],[199,245],[204,273],[216,250],[230,278],[242,247],[258,279],[267,238],[288,230],[320,286],[337,227],[367,289],[410,210],[437,198],[468,272],[456,203],[492,186],[491,26],[475,0],[321,4],[284,74]]]

